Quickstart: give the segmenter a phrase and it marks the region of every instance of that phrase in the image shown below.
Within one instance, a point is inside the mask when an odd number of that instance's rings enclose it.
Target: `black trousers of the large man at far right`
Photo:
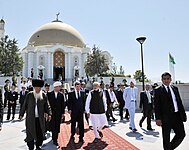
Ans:
[[[175,136],[170,142],[171,129],[173,129]],[[172,113],[169,121],[162,124],[162,135],[164,150],[173,150],[180,145],[186,134],[179,113]]]

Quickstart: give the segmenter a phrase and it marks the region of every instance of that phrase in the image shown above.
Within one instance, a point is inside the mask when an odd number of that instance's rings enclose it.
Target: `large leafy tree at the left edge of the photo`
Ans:
[[[11,40],[7,35],[0,40],[0,58],[0,71],[5,76],[22,70],[23,59],[19,53],[17,40]]]

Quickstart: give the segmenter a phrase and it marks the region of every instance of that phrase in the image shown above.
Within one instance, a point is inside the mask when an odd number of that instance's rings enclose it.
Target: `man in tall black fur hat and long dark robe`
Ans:
[[[51,109],[46,94],[41,90],[44,85],[43,80],[33,79],[32,86],[34,91],[27,94],[19,118],[22,119],[26,112],[26,139],[29,150],[41,150],[45,135],[45,118],[44,113],[51,119]]]

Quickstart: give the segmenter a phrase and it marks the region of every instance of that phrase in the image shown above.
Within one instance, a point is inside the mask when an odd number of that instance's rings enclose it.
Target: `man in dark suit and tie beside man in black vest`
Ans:
[[[85,93],[80,89],[80,82],[76,82],[75,90],[68,94],[68,112],[71,115],[71,138],[74,139],[76,122],[78,122],[79,142],[84,142]]]

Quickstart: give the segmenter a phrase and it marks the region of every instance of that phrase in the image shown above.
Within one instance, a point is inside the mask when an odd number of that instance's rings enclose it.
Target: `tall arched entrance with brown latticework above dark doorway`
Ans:
[[[61,51],[54,53],[53,63],[53,78],[54,81],[62,80],[65,81],[65,54]]]

